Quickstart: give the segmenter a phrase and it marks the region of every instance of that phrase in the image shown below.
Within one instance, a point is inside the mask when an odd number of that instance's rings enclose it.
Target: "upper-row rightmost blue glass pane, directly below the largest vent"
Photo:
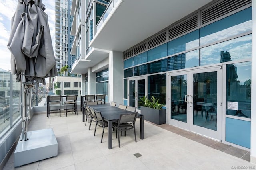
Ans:
[[[252,30],[252,7],[200,28],[200,45]]]

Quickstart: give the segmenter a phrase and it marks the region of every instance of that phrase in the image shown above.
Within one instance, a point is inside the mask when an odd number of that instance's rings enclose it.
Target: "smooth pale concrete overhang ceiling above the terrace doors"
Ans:
[[[90,43],[125,51],[212,0],[122,0]]]

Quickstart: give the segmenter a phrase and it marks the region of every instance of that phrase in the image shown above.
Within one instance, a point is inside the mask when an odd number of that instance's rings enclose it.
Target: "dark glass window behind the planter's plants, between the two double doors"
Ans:
[[[151,96],[166,104],[166,74],[148,76],[148,98]]]

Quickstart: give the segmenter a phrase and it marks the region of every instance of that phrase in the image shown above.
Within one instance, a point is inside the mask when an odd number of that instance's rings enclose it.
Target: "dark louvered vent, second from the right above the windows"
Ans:
[[[188,20],[182,22],[181,24],[172,27],[168,30],[168,38],[172,39],[178,35],[181,35],[183,33],[186,33],[187,31],[190,31],[191,29],[194,29],[197,27],[198,18],[196,16],[192,16],[192,18],[189,18]]]

